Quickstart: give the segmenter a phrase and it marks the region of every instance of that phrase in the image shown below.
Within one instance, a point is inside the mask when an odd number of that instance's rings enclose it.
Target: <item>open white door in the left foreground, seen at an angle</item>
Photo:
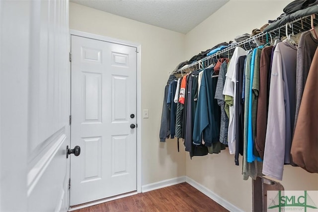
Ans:
[[[1,1],[0,211],[67,211],[69,1]]]

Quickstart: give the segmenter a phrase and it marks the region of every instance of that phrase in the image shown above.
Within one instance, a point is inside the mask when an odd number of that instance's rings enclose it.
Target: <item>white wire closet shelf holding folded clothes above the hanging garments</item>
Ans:
[[[313,25],[318,26],[318,13],[313,14]],[[255,48],[257,46],[268,43],[269,41],[274,41],[275,37],[287,37],[289,34],[297,35],[299,33],[308,31],[312,29],[312,15],[301,17],[296,20],[290,21],[282,26],[279,26],[269,32],[261,32],[257,35],[249,37],[239,43],[232,43],[226,49],[218,51],[217,53],[207,56],[199,61],[196,61],[192,64],[186,65],[176,71],[173,71],[171,74],[175,73],[187,73],[196,69],[202,69],[215,64],[220,58],[231,58],[233,56],[234,50],[236,47],[241,47],[245,50]],[[287,34],[286,34],[287,32]]]

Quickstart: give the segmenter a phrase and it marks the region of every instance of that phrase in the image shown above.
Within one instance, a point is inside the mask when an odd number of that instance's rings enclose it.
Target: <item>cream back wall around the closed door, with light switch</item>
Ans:
[[[142,185],[185,175],[176,140],[159,142],[168,72],[184,59],[184,35],[70,2],[70,29],[141,44]],[[138,114],[142,115],[142,114]]]

